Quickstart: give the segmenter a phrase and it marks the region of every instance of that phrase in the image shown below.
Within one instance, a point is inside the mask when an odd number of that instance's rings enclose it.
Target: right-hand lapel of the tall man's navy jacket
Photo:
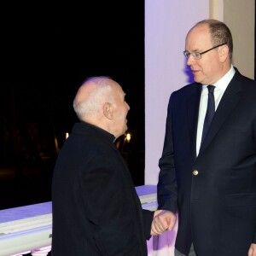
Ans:
[[[200,153],[207,148],[207,146],[212,142],[213,137],[216,136],[219,129],[224,124],[225,120],[230,116],[233,109],[236,107],[237,103],[241,99],[241,82],[238,79],[241,76],[238,71],[233,79],[231,79],[230,84],[224,92],[224,96],[219,102],[217,111],[212,119],[212,124],[208,130],[207,137],[205,138],[204,143],[201,145]]]

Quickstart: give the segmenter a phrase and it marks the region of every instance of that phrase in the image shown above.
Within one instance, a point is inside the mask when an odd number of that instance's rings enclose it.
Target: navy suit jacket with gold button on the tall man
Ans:
[[[200,98],[197,83],[170,97],[159,208],[178,212],[181,253],[193,241],[199,256],[246,256],[256,243],[256,84],[236,69],[196,157]]]

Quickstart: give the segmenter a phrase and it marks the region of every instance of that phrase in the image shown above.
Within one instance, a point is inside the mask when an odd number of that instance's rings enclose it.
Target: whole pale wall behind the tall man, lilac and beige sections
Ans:
[[[254,9],[254,0],[145,0],[145,184],[158,182],[169,97],[192,81],[183,57],[187,32],[199,20],[223,20],[236,45],[234,64],[253,79]],[[234,19],[234,13],[247,19]],[[147,241],[148,256],[174,255],[177,223],[172,231]]]

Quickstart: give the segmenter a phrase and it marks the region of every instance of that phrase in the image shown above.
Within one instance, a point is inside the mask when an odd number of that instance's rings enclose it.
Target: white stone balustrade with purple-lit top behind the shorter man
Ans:
[[[157,207],[156,186],[136,187],[144,209]],[[51,249],[51,202],[0,211],[0,256],[46,256]],[[149,243],[148,243],[149,245]]]

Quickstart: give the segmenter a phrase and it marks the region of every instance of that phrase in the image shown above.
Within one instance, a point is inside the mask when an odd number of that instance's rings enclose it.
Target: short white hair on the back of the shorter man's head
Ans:
[[[103,76],[91,77],[84,80],[81,87],[88,86],[89,84],[93,87],[80,99],[78,99],[78,91],[77,96],[74,98],[73,109],[80,120],[83,119],[83,117],[99,113],[103,103],[113,102],[112,82],[113,79]]]

